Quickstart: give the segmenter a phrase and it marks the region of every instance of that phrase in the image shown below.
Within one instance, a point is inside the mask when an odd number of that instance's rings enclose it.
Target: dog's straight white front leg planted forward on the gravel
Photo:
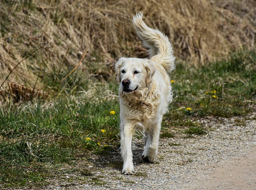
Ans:
[[[124,162],[122,173],[126,175],[132,175],[134,173],[133,162],[132,162],[133,131],[134,131],[134,125],[130,123],[120,124],[121,154]]]

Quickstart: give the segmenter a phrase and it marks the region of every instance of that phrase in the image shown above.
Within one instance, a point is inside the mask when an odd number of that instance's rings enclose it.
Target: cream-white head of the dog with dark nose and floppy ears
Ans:
[[[120,58],[116,63],[116,80],[126,93],[146,88],[154,72],[154,65],[148,59]]]

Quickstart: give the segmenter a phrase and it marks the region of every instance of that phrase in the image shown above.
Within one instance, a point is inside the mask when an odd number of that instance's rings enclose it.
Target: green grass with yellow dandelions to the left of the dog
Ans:
[[[112,110],[116,113],[110,114]],[[73,166],[80,158],[77,155],[86,159],[92,151],[102,154],[116,146],[118,123],[118,100],[92,103],[66,99],[53,105],[36,102],[20,108],[2,107],[1,184],[30,186],[32,181],[39,185],[56,173],[77,172]],[[65,164],[69,167],[62,170]],[[78,173],[90,174],[87,170]]]

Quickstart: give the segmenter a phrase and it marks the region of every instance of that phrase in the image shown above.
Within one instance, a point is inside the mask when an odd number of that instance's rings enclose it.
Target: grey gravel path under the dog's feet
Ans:
[[[201,120],[207,135],[162,138],[157,162],[142,162],[142,140],[133,150],[136,174],[121,174],[119,150],[87,163],[92,176],[66,174],[50,182],[49,190],[256,190],[256,114],[244,118]],[[176,131],[175,129],[173,129]],[[81,164],[83,167],[85,163]]]

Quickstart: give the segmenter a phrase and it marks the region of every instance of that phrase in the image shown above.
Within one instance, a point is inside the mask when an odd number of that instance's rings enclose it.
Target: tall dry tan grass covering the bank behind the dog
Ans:
[[[255,0],[6,0],[0,6],[0,82],[44,44],[9,82],[42,89],[45,73],[74,68],[87,50],[77,70],[104,78],[108,69],[111,77],[116,58],[146,56],[131,21],[139,11],[170,38],[178,60],[204,64],[255,47]],[[7,88],[6,82],[1,90]]]

